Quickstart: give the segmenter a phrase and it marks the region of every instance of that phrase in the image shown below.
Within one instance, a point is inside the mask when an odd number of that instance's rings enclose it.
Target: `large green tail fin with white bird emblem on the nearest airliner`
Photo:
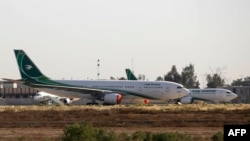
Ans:
[[[48,77],[42,74],[23,50],[14,50],[14,52],[22,80],[40,84],[45,81],[50,81]]]

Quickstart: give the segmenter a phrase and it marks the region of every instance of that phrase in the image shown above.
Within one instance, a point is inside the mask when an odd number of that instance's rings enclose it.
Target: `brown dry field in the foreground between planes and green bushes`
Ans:
[[[2,106],[0,140],[60,140],[73,123],[116,133],[179,132],[210,140],[225,124],[249,124],[250,105]]]

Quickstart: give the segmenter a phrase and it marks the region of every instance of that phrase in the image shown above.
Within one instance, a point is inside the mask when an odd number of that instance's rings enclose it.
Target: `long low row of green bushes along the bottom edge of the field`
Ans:
[[[217,136],[215,136],[216,138]],[[73,124],[64,129],[63,141],[191,141],[187,134],[180,133],[151,133],[137,131],[131,136],[115,132],[107,132],[105,129],[94,128],[90,123]],[[220,140],[213,140],[220,141]]]

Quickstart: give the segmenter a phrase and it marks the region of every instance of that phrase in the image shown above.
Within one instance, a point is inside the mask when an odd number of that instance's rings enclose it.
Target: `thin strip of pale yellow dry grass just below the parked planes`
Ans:
[[[248,110],[250,104],[166,104],[166,105],[114,105],[114,106],[103,106],[103,105],[81,105],[81,106],[0,106],[0,112],[3,111],[69,111],[69,110],[120,110],[127,109],[131,111],[136,110],[149,110],[149,111],[233,111],[233,110]]]

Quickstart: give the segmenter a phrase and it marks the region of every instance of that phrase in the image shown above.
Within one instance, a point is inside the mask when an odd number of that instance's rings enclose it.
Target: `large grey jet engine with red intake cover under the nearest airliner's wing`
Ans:
[[[104,104],[121,104],[122,95],[118,93],[106,94],[104,96]]]

